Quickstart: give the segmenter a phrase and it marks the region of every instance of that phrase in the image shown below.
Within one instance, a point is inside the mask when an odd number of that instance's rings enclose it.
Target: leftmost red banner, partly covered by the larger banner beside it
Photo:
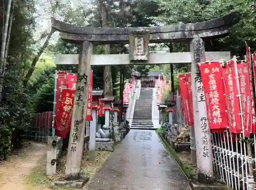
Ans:
[[[57,114],[60,105],[60,96],[63,88],[68,88],[67,72],[58,72],[56,78],[56,96],[55,96],[55,118],[54,123],[56,124]]]

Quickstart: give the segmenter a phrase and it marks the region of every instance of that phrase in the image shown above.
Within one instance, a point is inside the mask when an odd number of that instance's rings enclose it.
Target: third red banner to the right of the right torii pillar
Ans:
[[[245,137],[250,137],[251,116],[252,116],[250,92],[252,89],[250,88],[249,64],[248,62],[239,62],[237,64],[237,67],[238,67],[239,86],[240,86],[241,103],[242,103],[242,111],[243,111],[244,134],[245,134]]]

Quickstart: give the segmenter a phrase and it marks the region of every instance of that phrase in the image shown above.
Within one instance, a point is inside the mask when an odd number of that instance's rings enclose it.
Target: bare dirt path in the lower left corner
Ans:
[[[8,161],[0,163],[0,189],[26,190],[24,179],[37,166],[42,156],[46,155],[47,145],[31,143],[15,152]]]

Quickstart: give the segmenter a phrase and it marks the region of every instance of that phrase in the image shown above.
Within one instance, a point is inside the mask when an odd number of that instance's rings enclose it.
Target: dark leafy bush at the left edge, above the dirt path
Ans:
[[[0,108],[0,159],[7,158],[13,148],[22,146],[23,135],[34,118],[30,93],[23,87],[17,69],[5,73]]]

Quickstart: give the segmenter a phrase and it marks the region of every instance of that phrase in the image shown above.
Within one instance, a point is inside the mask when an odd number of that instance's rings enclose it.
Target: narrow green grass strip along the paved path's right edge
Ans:
[[[173,158],[177,161],[178,165],[181,167],[185,175],[189,178],[195,178],[195,168],[193,166],[188,166],[180,159],[177,152],[168,144],[168,142],[162,137],[161,133],[158,133],[161,141],[163,142],[166,150],[173,156]]]

